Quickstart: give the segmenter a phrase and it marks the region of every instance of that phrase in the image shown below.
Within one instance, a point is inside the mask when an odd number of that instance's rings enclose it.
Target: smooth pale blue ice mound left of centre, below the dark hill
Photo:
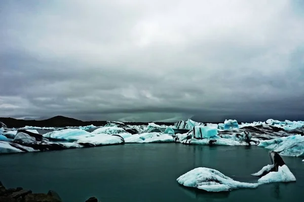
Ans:
[[[83,137],[95,136],[95,134],[89,133],[81,129],[65,129],[61,131],[53,131],[43,135],[46,138],[62,139],[75,141]]]

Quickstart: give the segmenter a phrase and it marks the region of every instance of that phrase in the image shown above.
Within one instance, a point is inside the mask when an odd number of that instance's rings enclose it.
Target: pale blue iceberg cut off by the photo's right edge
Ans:
[[[304,156],[304,136],[301,135],[262,140],[258,146],[274,150],[281,155]]]

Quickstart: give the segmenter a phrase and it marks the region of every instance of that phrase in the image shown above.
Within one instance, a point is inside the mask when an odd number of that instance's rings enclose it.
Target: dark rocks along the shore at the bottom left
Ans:
[[[32,193],[22,187],[6,189],[0,181],[0,202],[63,202],[58,193],[49,190],[48,193]],[[98,202],[95,197],[90,197],[86,202]]]

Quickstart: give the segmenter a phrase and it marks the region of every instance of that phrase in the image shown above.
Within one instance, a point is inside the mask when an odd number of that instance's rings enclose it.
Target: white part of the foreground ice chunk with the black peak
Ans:
[[[277,172],[270,172],[267,175],[258,179],[258,182],[263,184],[272,183],[272,182],[293,182],[293,181],[296,181],[296,179],[286,165],[279,166]]]

